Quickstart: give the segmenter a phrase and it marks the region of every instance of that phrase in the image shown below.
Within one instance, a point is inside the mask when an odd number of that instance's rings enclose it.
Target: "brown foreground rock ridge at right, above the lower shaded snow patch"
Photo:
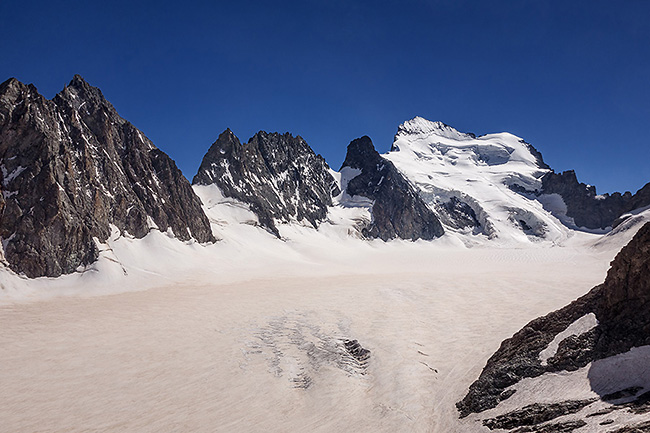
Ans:
[[[596,315],[598,325],[564,339],[555,356],[542,365],[540,352],[556,335],[588,313]],[[645,345],[650,345],[650,223],[618,253],[603,284],[568,306],[533,320],[505,340],[470,386],[467,396],[457,403],[458,410],[464,417],[491,409],[512,395],[506,388],[525,377],[576,370]],[[612,394],[602,396],[603,400],[610,398]]]

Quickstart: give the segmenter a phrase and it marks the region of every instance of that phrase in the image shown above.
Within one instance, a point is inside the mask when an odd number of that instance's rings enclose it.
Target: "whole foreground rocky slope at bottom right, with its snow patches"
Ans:
[[[501,344],[458,403],[461,416],[485,413],[490,429],[637,431],[650,413],[649,305],[646,223],[603,284]]]

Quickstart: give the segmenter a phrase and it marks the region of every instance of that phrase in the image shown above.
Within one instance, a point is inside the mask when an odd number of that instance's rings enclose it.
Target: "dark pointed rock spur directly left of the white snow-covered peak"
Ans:
[[[341,169],[344,167],[361,170],[348,182],[346,192],[374,200],[372,222],[362,230],[364,236],[383,240],[442,236],[438,217],[393,163],[379,155],[370,138],[364,136],[350,143]]]

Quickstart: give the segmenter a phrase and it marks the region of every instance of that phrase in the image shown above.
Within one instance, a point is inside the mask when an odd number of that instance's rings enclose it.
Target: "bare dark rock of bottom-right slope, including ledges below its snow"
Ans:
[[[629,387],[621,383],[621,389],[614,392],[601,392],[602,387],[594,383],[597,374],[593,373],[595,361],[602,363],[632,348],[650,345],[649,307],[650,223],[646,223],[616,256],[603,284],[570,305],[533,320],[501,344],[499,350],[488,360],[478,380],[470,386],[467,396],[457,404],[460,415],[464,417],[497,407],[516,393],[516,384],[524,378],[576,371],[590,364],[592,390],[600,395],[601,402],[615,403],[603,403],[601,415],[631,407],[635,413],[650,412],[650,406],[647,405],[650,389],[646,389],[650,386],[650,378],[647,377],[644,363],[639,363],[635,369],[626,373],[627,376],[636,377],[635,380],[639,382],[636,386]],[[581,332],[567,332],[571,327],[578,329],[575,324],[584,322],[585,318],[589,320],[590,315],[595,318],[592,319],[591,326],[583,326]],[[554,350],[549,351],[552,346]],[[615,369],[622,368],[621,361],[612,364],[616,366]],[[615,370],[608,371],[607,375],[611,376]],[[609,386],[611,388],[612,385]],[[596,399],[586,402],[579,409],[592,404],[596,404]],[[496,424],[494,419],[486,420],[485,425],[492,423],[496,428],[504,425],[501,421],[506,418],[511,421],[521,418],[522,413],[530,411],[530,407],[523,409],[503,415]],[[567,413],[561,410],[556,416]],[[539,418],[538,422],[530,424],[541,424],[544,421],[548,419]],[[515,422],[507,425],[512,426],[508,428],[514,428],[523,424]]]

